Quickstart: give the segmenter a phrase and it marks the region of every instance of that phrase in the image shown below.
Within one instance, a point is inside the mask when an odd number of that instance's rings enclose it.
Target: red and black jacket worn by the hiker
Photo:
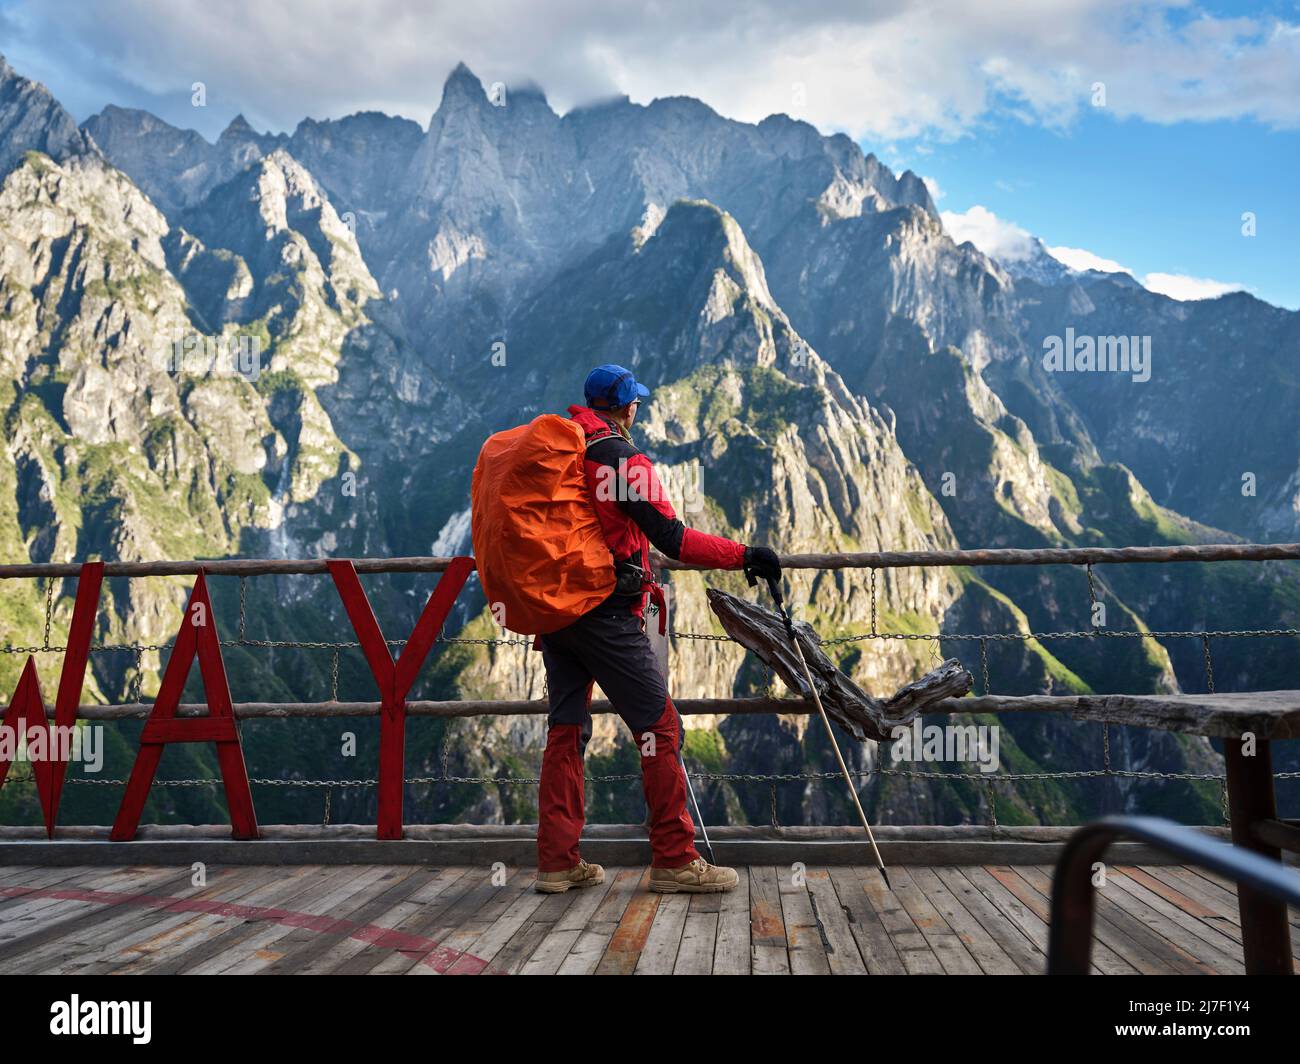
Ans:
[[[745,563],[744,544],[682,524],[654,464],[610,421],[585,406],[571,406],[568,414],[586,433],[586,483],[616,567],[627,561],[640,566],[649,589],[651,544],[670,558],[708,568],[740,568]],[[645,593],[615,594],[610,605],[641,613]]]

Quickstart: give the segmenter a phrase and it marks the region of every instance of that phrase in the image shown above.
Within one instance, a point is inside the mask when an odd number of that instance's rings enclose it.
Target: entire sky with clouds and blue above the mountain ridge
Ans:
[[[116,103],[209,138],[240,112],[422,125],[460,60],[559,111],[624,92],[785,112],[930,178],[987,251],[1027,230],[1175,297],[1300,307],[1295,0],[0,0],[0,52],[78,120]]]

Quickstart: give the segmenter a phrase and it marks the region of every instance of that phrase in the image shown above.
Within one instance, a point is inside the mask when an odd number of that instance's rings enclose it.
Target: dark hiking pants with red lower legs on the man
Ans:
[[[586,821],[582,758],[592,738],[592,684],[614,704],[641,751],[641,787],[650,810],[655,868],[694,861],[696,825],[686,812],[686,775],[679,761],[681,722],[668,697],[650,639],[632,613],[589,613],[545,635],[542,661],[550,696],[546,753],[537,796],[537,869],[578,862]]]

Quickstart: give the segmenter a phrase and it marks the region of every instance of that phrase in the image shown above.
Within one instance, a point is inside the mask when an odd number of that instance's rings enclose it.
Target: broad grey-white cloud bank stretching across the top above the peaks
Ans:
[[[534,79],[560,109],[680,94],[745,121],[786,112],[874,140],[956,137],[994,112],[1067,124],[1097,83],[1121,117],[1300,127],[1300,23],[1184,0],[14,0],[9,10],[10,60],[29,56],[82,107],[99,105],[98,87],[101,103],[165,111],[204,81],[213,112],[276,129],[360,108],[424,122],[459,60],[485,82]],[[188,125],[211,121],[198,117]]]

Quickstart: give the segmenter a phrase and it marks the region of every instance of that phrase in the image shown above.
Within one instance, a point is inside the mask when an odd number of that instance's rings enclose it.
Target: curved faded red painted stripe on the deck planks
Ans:
[[[329,935],[343,935],[358,942],[393,950],[399,953],[419,953],[420,964],[443,973],[452,965],[458,976],[500,976],[482,957],[442,946],[432,938],[412,935],[377,924],[354,924],[332,916],[277,909],[266,905],[244,905],[238,901],[218,901],[212,898],[172,898],[165,894],[122,894],[121,891],[92,891],[77,887],[0,887],[0,898],[53,898],[60,901],[91,901],[96,905],[134,905],[165,913],[203,913],[205,916],[233,916],[240,920],[261,920],[285,927],[304,927]]]

